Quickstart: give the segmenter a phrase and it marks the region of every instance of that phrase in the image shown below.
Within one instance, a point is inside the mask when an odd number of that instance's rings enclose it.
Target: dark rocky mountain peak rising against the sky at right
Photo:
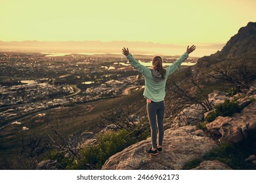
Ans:
[[[216,80],[207,77],[209,74],[214,74],[210,68],[219,67],[221,63],[226,61],[235,64],[238,61],[245,61],[249,67],[255,69],[255,59],[253,59],[256,57],[255,48],[256,22],[249,22],[245,27],[240,28],[238,33],[226,42],[226,45],[221,51],[211,54],[211,56],[204,56],[198,59],[196,65],[192,66],[190,71],[197,73],[197,80],[216,84]]]

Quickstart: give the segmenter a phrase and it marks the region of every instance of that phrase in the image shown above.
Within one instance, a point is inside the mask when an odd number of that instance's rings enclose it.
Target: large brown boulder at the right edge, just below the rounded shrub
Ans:
[[[206,127],[210,133],[221,135],[220,142],[242,142],[251,131],[256,131],[256,102],[232,117],[219,116]]]

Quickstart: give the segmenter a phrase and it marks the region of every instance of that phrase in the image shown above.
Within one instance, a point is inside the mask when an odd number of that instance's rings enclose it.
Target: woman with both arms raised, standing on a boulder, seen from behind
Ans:
[[[146,110],[150,121],[152,147],[147,151],[150,155],[157,155],[162,152],[163,143],[163,116],[165,114],[165,84],[169,75],[176,71],[181,63],[188,58],[188,54],[194,52],[196,46],[192,45],[186,48],[186,52],[175,63],[163,68],[163,59],[160,56],[155,56],[152,60],[152,69],[141,65],[133,55],[129,53],[129,49],[123,48],[123,54],[129,59],[129,63],[145,78],[144,97],[146,98]],[[157,126],[158,125],[158,126]],[[157,128],[158,128],[158,144],[157,144]]]

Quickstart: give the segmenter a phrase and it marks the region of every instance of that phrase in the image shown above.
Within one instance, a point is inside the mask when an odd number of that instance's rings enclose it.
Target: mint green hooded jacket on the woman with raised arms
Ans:
[[[165,68],[165,79],[157,81],[152,76],[152,69],[144,65],[141,65],[139,61],[133,58],[132,54],[129,54],[127,56],[127,59],[129,59],[129,63],[131,63],[131,65],[140,73],[142,73],[142,75],[144,75],[145,77],[145,89],[143,93],[144,97],[154,102],[163,101],[163,99],[165,98],[165,84],[168,76],[175,72],[181,66],[181,63],[185,61],[187,58],[188,53],[185,52],[184,54],[182,54],[181,58],[175,61],[175,63]]]

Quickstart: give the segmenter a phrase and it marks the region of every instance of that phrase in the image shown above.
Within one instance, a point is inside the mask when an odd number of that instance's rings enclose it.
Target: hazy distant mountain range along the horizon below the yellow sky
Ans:
[[[154,42],[135,41],[0,41],[0,51],[22,51],[22,52],[93,52],[93,53],[121,53],[123,47],[131,48],[137,54],[182,54],[186,45],[160,44]],[[223,48],[224,44],[200,44],[199,50],[205,54],[213,54]],[[173,52],[170,52],[172,50]],[[205,52],[208,50],[208,52]],[[198,52],[199,53],[199,52]]]

